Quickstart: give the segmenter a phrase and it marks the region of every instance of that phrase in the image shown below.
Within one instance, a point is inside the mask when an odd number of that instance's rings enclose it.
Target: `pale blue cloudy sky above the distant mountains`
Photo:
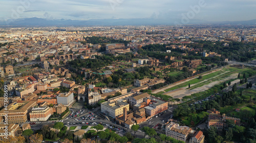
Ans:
[[[256,19],[255,0],[1,0],[0,20],[159,18],[204,21]]]

